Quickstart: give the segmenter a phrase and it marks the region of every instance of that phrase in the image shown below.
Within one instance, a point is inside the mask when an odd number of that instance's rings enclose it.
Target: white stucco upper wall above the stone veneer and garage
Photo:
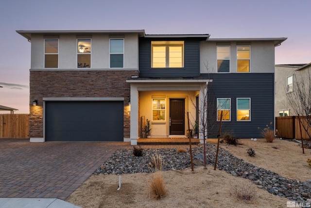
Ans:
[[[91,44],[91,68],[87,70],[116,70],[109,69],[109,34],[93,34]],[[76,34],[59,35],[58,45],[58,70],[77,69]],[[32,35],[31,54],[31,69],[44,69],[42,34]],[[124,69],[138,69],[138,34],[124,34]]]

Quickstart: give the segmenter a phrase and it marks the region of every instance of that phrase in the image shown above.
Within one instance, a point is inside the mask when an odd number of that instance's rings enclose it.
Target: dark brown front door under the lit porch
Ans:
[[[185,99],[170,99],[170,134],[185,135]]]

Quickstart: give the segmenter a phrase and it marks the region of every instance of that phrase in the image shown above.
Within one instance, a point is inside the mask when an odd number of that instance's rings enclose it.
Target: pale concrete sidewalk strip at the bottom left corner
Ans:
[[[81,208],[61,199],[0,198],[0,208]]]

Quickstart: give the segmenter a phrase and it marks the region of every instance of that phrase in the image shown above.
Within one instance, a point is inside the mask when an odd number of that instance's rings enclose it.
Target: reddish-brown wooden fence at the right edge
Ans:
[[[302,122],[306,122],[307,120],[305,116],[300,116],[300,119]],[[304,139],[309,139],[309,135],[304,130],[302,125],[301,125],[301,133],[300,133],[300,125],[299,125],[298,116],[276,117],[276,130],[277,130],[277,136],[281,138],[300,139],[302,136],[302,138]],[[311,128],[309,132],[311,132]]]

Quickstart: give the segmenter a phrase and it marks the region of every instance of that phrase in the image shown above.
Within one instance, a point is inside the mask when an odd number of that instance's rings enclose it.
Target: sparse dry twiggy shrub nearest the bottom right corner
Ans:
[[[249,183],[236,185],[233,188],[233,191],[238,199],[242,199],[246,201],[251,201],[255,199],[257,196],[256,188],[253,186],[253,184],[249,184]]]

